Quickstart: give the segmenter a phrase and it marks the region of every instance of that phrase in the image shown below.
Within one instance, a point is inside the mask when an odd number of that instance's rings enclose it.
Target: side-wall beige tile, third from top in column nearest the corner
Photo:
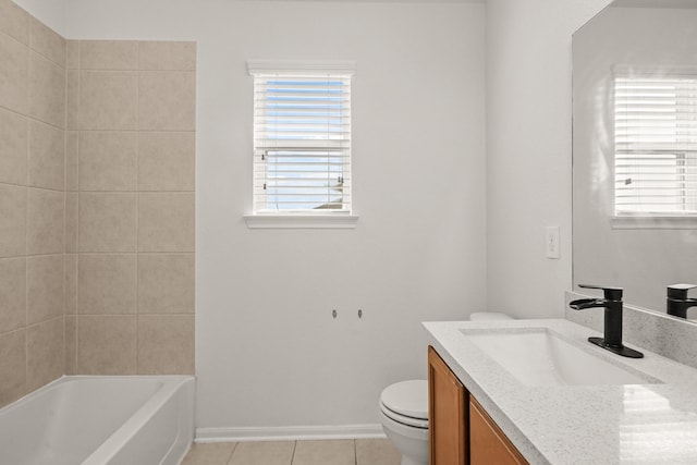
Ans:
[[[65,132],[32,121],[29,125],[29,185],[63,191]]]

